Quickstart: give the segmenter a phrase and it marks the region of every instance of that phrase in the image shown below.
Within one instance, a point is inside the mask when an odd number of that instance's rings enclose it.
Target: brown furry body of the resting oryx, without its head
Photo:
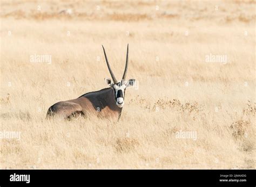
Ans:
[[[46,118],[58,116],[69,119],[79,114],[79,116],[82,115],[86,118],[97,116],[99,118],[118,120],[121,112],[122,108],[116,105],[113,88],[106,88],[85,93],[77,99],[58,102],[49,108]]]

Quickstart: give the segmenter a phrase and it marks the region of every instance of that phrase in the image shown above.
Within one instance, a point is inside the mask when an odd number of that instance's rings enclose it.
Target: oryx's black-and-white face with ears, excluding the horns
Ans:
[[[109,78],[105,78],[107,84],[114,89],[114,98],[116,99],[116,104],[118,107],[122,108],[124,106],[124,96],[125,89],[127,87],[132,87],[135,80],[130,79],[129,81],[120,81],[117,84],[113,84]]]

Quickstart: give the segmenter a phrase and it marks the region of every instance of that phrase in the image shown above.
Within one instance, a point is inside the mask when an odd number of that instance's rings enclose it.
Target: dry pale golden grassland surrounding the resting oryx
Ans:
[[[64,10],[64,11],[62,11]],[[255,169],[255,2],[1,1],[1,168]],[[61,12],[62,11],[62,12]],[[49,106],[126,91],[120,121],[46,120]],[[51,55],[51,63],[31,55]],[[225,62],[208,62],[207,55]],[[178,133],[193,133],[180,138]]]

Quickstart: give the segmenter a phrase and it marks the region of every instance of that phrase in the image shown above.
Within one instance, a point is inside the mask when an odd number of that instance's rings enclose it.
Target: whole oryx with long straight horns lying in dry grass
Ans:
[[[105,78],[105,82],[110,88],[85,93],[76,99],[58,102],[49,108],[46,118],[57,116],[70,119],[76,116],[84,116],[86,118],[97,116],[100,118],[119,120],[124,106],[125,90],[127,87],[133,86],[135,82],[134,79],[130,79],[129,81],[125,80],[128,68],[129,44],[127,45],[126,63],[121,81],[117,81],[114,76],[109,61],[107,60],[104,47],[103,52],[107,68],[113,80],[111,81],[110,78]]]

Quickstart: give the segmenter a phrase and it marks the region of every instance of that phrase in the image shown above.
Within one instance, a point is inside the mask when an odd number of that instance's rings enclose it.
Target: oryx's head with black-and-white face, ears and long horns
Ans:
[[[102,46],[103,47],[103,46]],[[128,68],[128,54],[129,54],[129,44],[127,45],[127,53],[126,53],[126,63],[125,63],[125,69],[124,69],[124,75],[121,81],[117,81],[116,77],[113,74],[113,71],[110,68],[109,61],[107,61],[107,56],[105,49],[103,47],[107,68],[109,68],[110,75],[112,77],[112,80],[110,78],[105,78],[105,82],[113,88],[114,90],[114,98],[116,99],[116,104],[118,107],[122,108],[124,106],[124,96],[125,96],[125,89],[127,87],[132,87],[134,85],[135,80],[130,79],[128,81],[125,80],[127,68]]]

